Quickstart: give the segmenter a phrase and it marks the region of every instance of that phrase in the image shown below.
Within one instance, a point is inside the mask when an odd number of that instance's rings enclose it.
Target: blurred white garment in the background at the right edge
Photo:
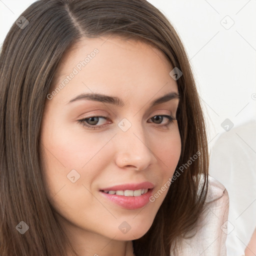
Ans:
[[[255,121],[219,135],[211,149],[209,173],[229,195],[227,256],[242,256],[256,227]]]

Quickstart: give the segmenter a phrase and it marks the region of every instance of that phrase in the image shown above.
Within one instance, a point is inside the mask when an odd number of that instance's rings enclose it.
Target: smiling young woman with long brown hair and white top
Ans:
[[[225,255],[228,196],[159,10],[36,1],[3,42],[0,78],[1,256]]]

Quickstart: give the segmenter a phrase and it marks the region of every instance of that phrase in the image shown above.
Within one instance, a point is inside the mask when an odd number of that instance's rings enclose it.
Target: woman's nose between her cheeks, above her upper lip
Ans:
[[[133,124],[128,130],[119,130],[115,136],[116,165],[120,168],[135,168],[143,170],[157,161],[153,152],[150,137],[143,127]]]

